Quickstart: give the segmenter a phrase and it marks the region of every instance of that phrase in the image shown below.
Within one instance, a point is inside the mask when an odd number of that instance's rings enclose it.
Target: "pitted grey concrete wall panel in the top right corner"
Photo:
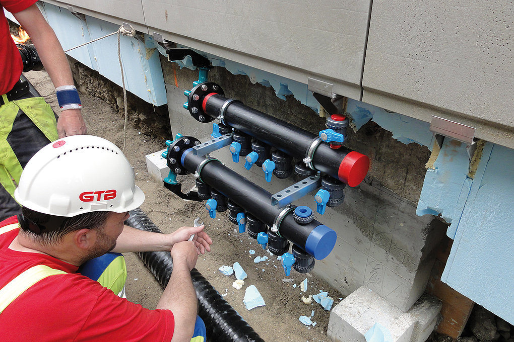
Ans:
[[[511,147],[513,21],[506,0],[373,2],[363,101],[426,121],[443,115]]]

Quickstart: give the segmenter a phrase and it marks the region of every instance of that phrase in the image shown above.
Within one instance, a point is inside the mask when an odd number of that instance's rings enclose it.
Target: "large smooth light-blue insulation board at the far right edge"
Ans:
[[[487,143],[442,280],[514,324],[514,150]]]

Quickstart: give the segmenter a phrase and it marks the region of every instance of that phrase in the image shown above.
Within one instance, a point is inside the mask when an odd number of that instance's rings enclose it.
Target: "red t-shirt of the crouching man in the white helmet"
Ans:
[[[0,227],[17,223],[11,217]],[[78,273],[77,267],[39,253],[9,249],[19,229],[0,235],[0,288],[35,265],[67,274],[32,285],[0,313],[3,341],[166,341],[173,337],[170,310],[148,310]]]

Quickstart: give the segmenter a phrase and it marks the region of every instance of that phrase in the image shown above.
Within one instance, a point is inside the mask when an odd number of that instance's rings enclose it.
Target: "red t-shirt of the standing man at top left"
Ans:
[[[0,95],[7,93],[20,79],[23,70],[22,57],[9,32],[4,8],[16,13],[23,11],[37,0],[0,0]]]

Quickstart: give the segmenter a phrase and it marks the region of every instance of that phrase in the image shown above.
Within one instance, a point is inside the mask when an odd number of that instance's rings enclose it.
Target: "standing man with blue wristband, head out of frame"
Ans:
[[[12,195],[30,157],[59,137],[86,133],[66,55],[35,2],[0,0],[0,220],[20,212]],[[28,82],[20,79],[24,66],[4,8],[27,31],[56,87],[61,107],[57,122],[43,97],[33,97]]]

